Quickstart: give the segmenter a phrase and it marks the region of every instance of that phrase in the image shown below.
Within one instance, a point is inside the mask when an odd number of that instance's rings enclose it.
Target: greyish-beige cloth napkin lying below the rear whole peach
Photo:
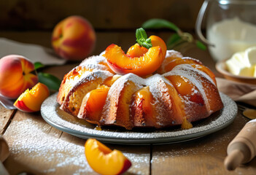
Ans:
[[[0,38],[0,58],[13,54],[23,55],[33,63],[41,62],[44,65],[61,65],[66,63],[65,60],[58,58],[51,49],[36,44],[25,44]]]

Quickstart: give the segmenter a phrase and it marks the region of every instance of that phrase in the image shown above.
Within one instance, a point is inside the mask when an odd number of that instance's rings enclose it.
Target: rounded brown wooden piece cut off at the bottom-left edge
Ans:
[[[4,168],[2,162],[6,160],[9,156],[9,147],[7,141],[0,135],[0,174],[7,175],[9,174],[7,170]]]

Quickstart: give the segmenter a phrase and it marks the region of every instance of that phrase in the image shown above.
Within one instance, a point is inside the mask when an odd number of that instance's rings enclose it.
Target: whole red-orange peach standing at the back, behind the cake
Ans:
[[[70,16],[53,29],[52,45],[55,52],[69,61],[85,59],[96,44],[96,34],[85,18]]]

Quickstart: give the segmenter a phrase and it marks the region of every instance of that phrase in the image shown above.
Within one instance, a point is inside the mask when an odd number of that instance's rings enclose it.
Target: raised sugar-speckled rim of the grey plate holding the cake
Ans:
[[[233,120],[235,120],[238,109],[236,106],[235,101],[233,101],[230,97],[228,97],[227,95],[225,95],[224,93],[220,93],[220,96],[222,98],[222,101],[224,100],[223,104],[224,107],[222,109],[222,113],[225,112],[225,109],[228,108],[228,106],[232,106],[233,107],[233,113],[230,114],[230,119],[226,120],[225,123],[222,123],[222,125],[217,125],[213,128],[209,128],[209,129],[205,129],[204,131],[199,131],[199,132],[193,132],[193,133],[188,133],[188,134],[183,134],[182,136],[158,136],[157,138],[155,137],[147,137],[147,138],[143,138],[143,137],[131,137],[132,134],[131,133],[135,133],[133,131],[129,131],[129,133],[120,133],[121,135],[125,135],[124,136],[118,136],[119,133],[114,132],[114,131],[96,131],[92,128],[87,128],[85,125],[82,124],[76,124],[76,123],[70,123],[67,120],[62,119],[60,116],[58,116],[58,113],[56,112],[56,107],[59,106],[59,104],[57,103],[57,101],[55,100],[55,96],[57,96],[57,93],[54,93],[53,95],[49,96],[42,104],[41,106],[41,114],[43,119],[50,125],[52,125],[54,128],[57,128],[60,131],[69,133],[73,136],[77,136],[79,138],[82,139],[88,139],[88,138],[96,138],[99,141],[104,141],[104,142],[109,142],[109,143],[115,143],[115,144],[171,144],[171,143],[177,143],[180,141],[187,141],[187,140],[191,140],[191,139],[197,139],[199,137],[203,137],[206,135],[209,135],[210,133],[214,133],[217,131],[220,131],[221,129],[227,127],[228,125],[230,125],[230,123],[233,123]],[[54,101],[53,101],[54,99]],[[73,124],[79,127],[83,127],[85,128],[85,131],[78,131],[78,130],[74,130],[73,128],[67,127],[66,125],[60,125],[60,123],[55,123],[53,120],[50,120],[50,118],[47,116],[46,110],[49,110],[49,105],[48,103],[53,103],[54,105],[50,105],[50,109],[54,109],[54,110],[50,110],[52,112],[52,114],[54,115],[54,117],[58,117],[58,120],[61,119],[64,123],[69,123],[69,125]],[[220,114],[220,117],[222,116],[222,114]],[[217,120],[220,118],[218,117]],[[214,120],[215,121],[215,120]],[[203,127],[205,127],[207,125],[203,125]],[[201,127],[202,128],[202,127]],[[86,132],[86,130],[89,130],[91,132]],[[183,130],[184,132],[185,130]],[[189,131],[189,130],[187,130]],[[175,131],[177,132],[182,132],[182,131]],[[104,133],[113,133],[114,136],[109,136],[106,135]],[[141,133],[141,132],[136,132],[136,133]],[[164,134],[164,133],[174,133],[171,131],[166,131],[166,132],[147,132],[144,133],[144,135],[149,135],[152,134],[155,135],[160,135]],[[143,134],[142,134],[143,135]],[[165,134],[164,134],[165,135]],[[117,137],[118,136],[118,137]]]

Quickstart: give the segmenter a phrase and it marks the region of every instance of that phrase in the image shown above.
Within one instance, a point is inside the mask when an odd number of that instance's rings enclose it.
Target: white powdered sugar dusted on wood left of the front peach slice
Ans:
[[[7,141],[10,157],[15,161],[22,161],[21,163],[36,171],[42,170],[38,172],[40,174],[54,174],[55,171],[62,172],[61,174],[93,172],[85,159],[83,144],[58,139],[57,133],[50,133],[50,125],[42,125],[29,117],[26,120],[12,121],[11,125],[5,135],[12,138]]]

